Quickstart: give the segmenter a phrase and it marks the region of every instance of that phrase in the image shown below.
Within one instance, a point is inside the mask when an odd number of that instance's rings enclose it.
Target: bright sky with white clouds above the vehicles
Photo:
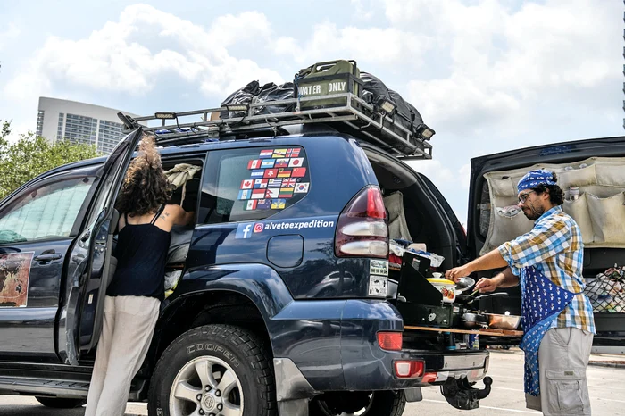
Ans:
[[[0,119],[39,96],[140,114],[219,106],[253,79],[354,59],[437,135],[411,162],[466,219],[471,157],[623,133],[615,0],[0,0]]]

